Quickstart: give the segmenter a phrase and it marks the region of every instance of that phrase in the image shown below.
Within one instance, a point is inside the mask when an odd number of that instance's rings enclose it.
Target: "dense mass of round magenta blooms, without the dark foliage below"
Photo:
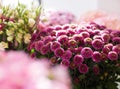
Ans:
[[[82,74],[89,71],[88,61],[92,61],[93,72],[98,74],[96,64],[118,60],[120,31],[95,23],[49,27],[32,35],[28,50],[32,51],[32,57],[48,57],[53,64],[78,69]]]

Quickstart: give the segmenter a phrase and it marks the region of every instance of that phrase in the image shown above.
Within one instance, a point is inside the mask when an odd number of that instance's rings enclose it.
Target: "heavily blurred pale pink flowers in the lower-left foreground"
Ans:
[[[1,89],[71,89],[62,66],[51,67],[46,59],[31,59],[23,52],[0,51]]]

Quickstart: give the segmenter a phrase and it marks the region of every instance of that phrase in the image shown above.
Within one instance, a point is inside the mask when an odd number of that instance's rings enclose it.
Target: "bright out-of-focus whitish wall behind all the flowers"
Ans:
[[[17,2],[24,3],[28,6],[34,2],[35,6],[40,4],[46,10],[70,11],[76,16],[82,13],[101,9],[109,13],[120,14],[120,0],[1,0],[3,5],[17,5]],[[106,4],[109,3],[109,4]]]

